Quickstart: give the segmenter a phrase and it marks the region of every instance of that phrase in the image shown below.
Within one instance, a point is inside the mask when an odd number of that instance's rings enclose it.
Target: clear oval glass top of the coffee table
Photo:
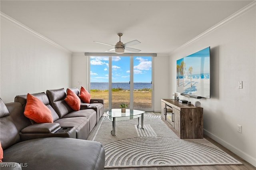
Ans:
[[[110,111],[107,112],[107,115],[110,117],[131,117],[131,116],[141,115],[142,113],[145,113],[145,112],[126,109],[125,113],[121,113],[121,109],[111,109]]]

